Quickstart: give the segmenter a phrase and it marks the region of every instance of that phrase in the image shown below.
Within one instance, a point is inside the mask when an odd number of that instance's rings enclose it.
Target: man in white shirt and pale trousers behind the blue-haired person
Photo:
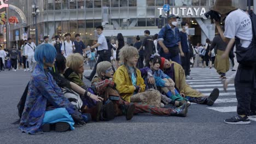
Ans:
[[[33,72],[34,67],[36,66],[36,60],[34,60],[34,50],[37,46],[32,42],[31,38],[28,38],[27,41],[28,43],[25,45],[25,57],[30,65],[30,71]]]

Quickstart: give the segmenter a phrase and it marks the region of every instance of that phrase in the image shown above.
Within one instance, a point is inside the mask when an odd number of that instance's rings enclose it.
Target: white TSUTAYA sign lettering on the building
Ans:
[[[174,14],[181,17],[201,17],[206,11],[210,10],[211,7],[171,7],[170,14]],[[162,9],[158,8],[159,15],[167,16],[167,13]]]

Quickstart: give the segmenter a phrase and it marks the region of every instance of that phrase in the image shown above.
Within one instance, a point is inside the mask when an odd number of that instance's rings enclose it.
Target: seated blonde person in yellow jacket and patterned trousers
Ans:
[[[177,109],[159,109],[161,93],[155,89],[145,91],[146,85],[141,76],[141,71],[136,68],[138,50],[132,46],[124,46],[119,53],[120,61],[124,64],[115,71],[113,80],[120,97],[127,102],[147,103],[147,108],[155,106],[155,115],[187,116],[188,106],[183,104]]]

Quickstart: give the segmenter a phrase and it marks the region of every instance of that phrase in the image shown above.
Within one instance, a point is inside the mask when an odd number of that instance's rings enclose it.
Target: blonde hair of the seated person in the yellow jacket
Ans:
[[[133,46],[124,46],[119,52],[120,61],[127,63],[130,57],[138,56],[138,50]]]

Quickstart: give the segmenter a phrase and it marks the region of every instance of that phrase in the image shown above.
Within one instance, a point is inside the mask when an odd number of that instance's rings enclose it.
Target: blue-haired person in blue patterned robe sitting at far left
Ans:
[[[85,124],[82,114],[75,109],[67,98],[63,97],[49,68],[54,67],[56,50],[50,44],[39,45],[34,53],[37,62],[30,84],[19,129],[27,134],[39,134],[42,131],[74,130],[73,125]]]

